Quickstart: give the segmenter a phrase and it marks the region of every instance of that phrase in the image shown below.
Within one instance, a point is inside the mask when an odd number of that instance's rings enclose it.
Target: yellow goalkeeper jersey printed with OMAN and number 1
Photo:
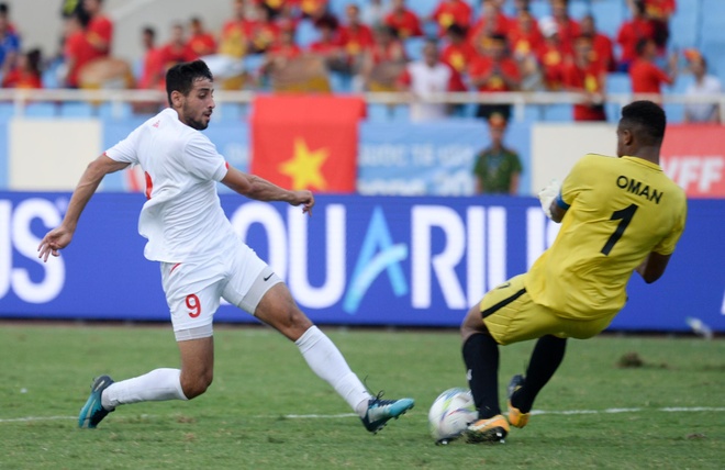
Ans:
[[[534,302],[568,318],[618,312],[634,269],[650,251],[671,254],[687,217],[682,189],[636,157],[585,155],[556,201],[567,213],[525,287]]]

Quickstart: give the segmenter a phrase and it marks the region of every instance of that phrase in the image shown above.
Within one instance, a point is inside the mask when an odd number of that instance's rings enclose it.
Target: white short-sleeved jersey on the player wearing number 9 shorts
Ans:
[[[148,239],[147,259],[201,259],[236,238],[216,194],[226,161],[205,135],[179,121],[175,110],[149,119],[105,155],[145,171],[148,200],[138,233]]]

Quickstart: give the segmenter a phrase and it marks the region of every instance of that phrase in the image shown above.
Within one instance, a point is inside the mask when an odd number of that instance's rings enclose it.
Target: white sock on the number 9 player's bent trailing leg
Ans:
[[[101,404],[107,410],[137,402],[164,400],[188,400],[181,390],[179,369],[155,369],[133,379],[109,385],[101,394]]]

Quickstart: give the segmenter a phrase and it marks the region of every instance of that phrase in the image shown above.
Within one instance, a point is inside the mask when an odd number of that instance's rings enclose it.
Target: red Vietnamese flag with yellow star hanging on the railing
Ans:
[[[359,98],[270,96],[254,101],[252,174],[282,188],[354,192]]]

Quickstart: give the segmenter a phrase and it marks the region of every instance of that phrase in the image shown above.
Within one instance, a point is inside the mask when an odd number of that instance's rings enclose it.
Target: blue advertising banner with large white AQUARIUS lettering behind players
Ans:
[[[99,193],[72,244],[47,264],[37,245],[67,193],[0,192],[0,317],[167,321],[157,264],[136,233],[142,194]],[[483,293],[525,271],[558,225],[531,198],[320,195],[299,208],[223,194],[239,235],[323,324],[457,326]],[[614,329],[685,331],[698,317],[725,332],[725,201],[690,201],[668,272],[633,277]],[[222,305],[221,322],[250,322]]]

